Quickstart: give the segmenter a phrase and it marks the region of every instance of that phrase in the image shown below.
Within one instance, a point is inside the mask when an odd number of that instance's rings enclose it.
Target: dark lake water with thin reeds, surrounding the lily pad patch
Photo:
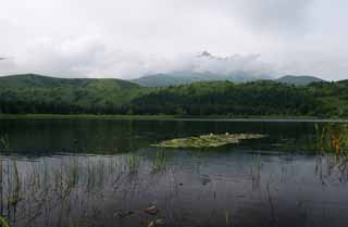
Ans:
[[[217,149],[150,147],[210,133],[269,137]],[[9,147],[0,212],[11,226],[348,223],[346,173],[313,154],[314,123],[0,121],[0,135]],[[156,214],[144,211],[152,205]]]

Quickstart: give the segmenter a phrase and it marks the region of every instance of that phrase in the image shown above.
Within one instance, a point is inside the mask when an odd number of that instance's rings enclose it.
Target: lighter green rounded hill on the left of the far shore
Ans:
[[[0,113],[110,113],[146,92],[121,79],[0,77]]]

